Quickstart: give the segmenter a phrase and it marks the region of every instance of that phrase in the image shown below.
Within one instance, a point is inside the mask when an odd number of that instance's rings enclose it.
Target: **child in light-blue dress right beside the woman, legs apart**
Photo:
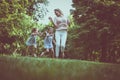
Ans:
[[[43,56],[45,53],[47,53],[51,50],[53,53],[52,57],[54,57],[53,42],[55,43],[55,41],[53,40],[53,36],[54,36],[53,28],[49,28],[48,31],[45,32],[45,34],[46,34],[46,36],[44,39],[44,48],[46,50],[44,52],[42,52],[40,56]]]

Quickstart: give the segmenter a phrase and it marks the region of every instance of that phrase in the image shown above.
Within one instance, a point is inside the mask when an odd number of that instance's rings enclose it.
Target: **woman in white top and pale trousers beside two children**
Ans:
[[[67,29],[70,24],[69,20],[64,17],[62,11],[60,9],[54,9],[56,17],[54,20],[52,20],[51,17],[49,17],[49,20],[54,24],[55,26],[55,40],[56,40],[56,49],[55,49],[55,56],[56,58],[59,57],[59,52],[61,50],[62,57],[64,57],[64,50],[65,50],[65,44],[67,39]]]

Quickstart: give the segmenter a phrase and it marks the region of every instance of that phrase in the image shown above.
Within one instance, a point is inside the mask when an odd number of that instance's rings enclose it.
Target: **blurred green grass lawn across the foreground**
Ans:
[[[0,56],[0,80],[120,80],[120,64]]]

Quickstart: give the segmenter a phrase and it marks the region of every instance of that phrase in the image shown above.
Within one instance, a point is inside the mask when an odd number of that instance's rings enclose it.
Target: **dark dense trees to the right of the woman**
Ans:
[[[72,58],[120,62],[120,1],[72,0],[74,28],[69,31]]]

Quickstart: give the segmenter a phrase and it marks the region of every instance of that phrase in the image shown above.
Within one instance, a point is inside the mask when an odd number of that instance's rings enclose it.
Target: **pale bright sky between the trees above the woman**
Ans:
[[[61,9],[65,16],[70,15],[70,9],[72,9],[72,6],[71,6],[72,0],[48,0],[48,1],[49,1],[49,4],[47,6],[48,13],[40,23],[48,24],[49,23],[48,17],[55,16],[54,15],[55,8]]]

